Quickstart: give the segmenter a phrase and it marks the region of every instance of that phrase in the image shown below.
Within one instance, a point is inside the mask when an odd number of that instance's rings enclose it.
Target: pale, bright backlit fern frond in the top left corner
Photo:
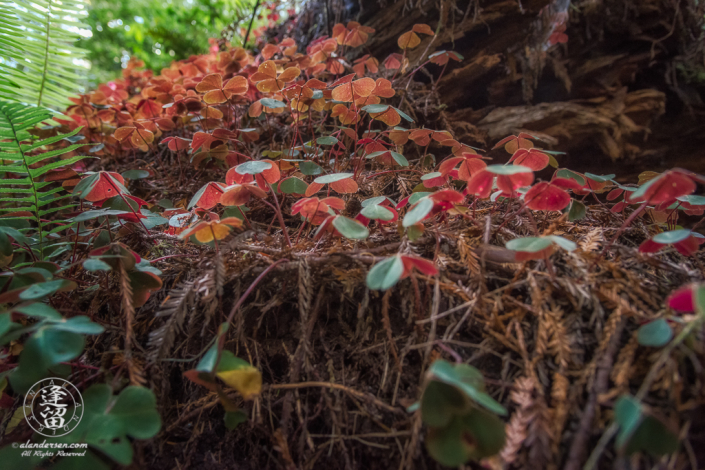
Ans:
[[[85,0],[0,0],[0,99],[63,109],[80,91]]]

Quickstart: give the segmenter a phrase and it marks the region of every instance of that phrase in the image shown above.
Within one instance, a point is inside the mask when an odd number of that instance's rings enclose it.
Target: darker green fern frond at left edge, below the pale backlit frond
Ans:
[[[56,220],[45,221],[43,217],[62,209],[71,208],[73,205],[48,207],[70,195],[60,195],[63,191],[61,186],[55,187],[52,182],[38,181],[38,178],[53,169],[69,166],[88,158],[85,155],[77,155],[65,160],[56,159],[56,157],[80,148],[81,144],[41,152],[43,147],[56,144],[80,130],[33,141],[29,130],[51,117],[51,111],[45,108],[0,100],[0,139],[4,140],[0,144],[0,173],[3,174],[0,179],[0,205],[2,205],[0,213],[29,211],[33,214],[33,220],[38,230],[40,258],[43,257],[45,238],[67,227],[64,225],[59,230],[49,229],[48,225]],[[26,219],[25,216],[15,218]]]

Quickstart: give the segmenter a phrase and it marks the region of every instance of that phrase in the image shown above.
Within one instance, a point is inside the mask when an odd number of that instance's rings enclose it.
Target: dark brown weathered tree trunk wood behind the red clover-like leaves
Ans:
[[[434,64],[401,92],[416,105],[418,125],[450,126],[456,138],[483,147],[528,132],[539,146],[567,152],[559,163],[577,171],[705,172],[702,2],[327,1],[331,22],[376,30],[362,50],[346,54],[350,61],[371,54],[382,63],[417,23],[438,35],[409,51],[410,70],[435,51],[464,56],[449,63],[434,96],[428,90],[442,69]],[[323,0],[310,5],[297,25],[302,43],[326,31]]]

